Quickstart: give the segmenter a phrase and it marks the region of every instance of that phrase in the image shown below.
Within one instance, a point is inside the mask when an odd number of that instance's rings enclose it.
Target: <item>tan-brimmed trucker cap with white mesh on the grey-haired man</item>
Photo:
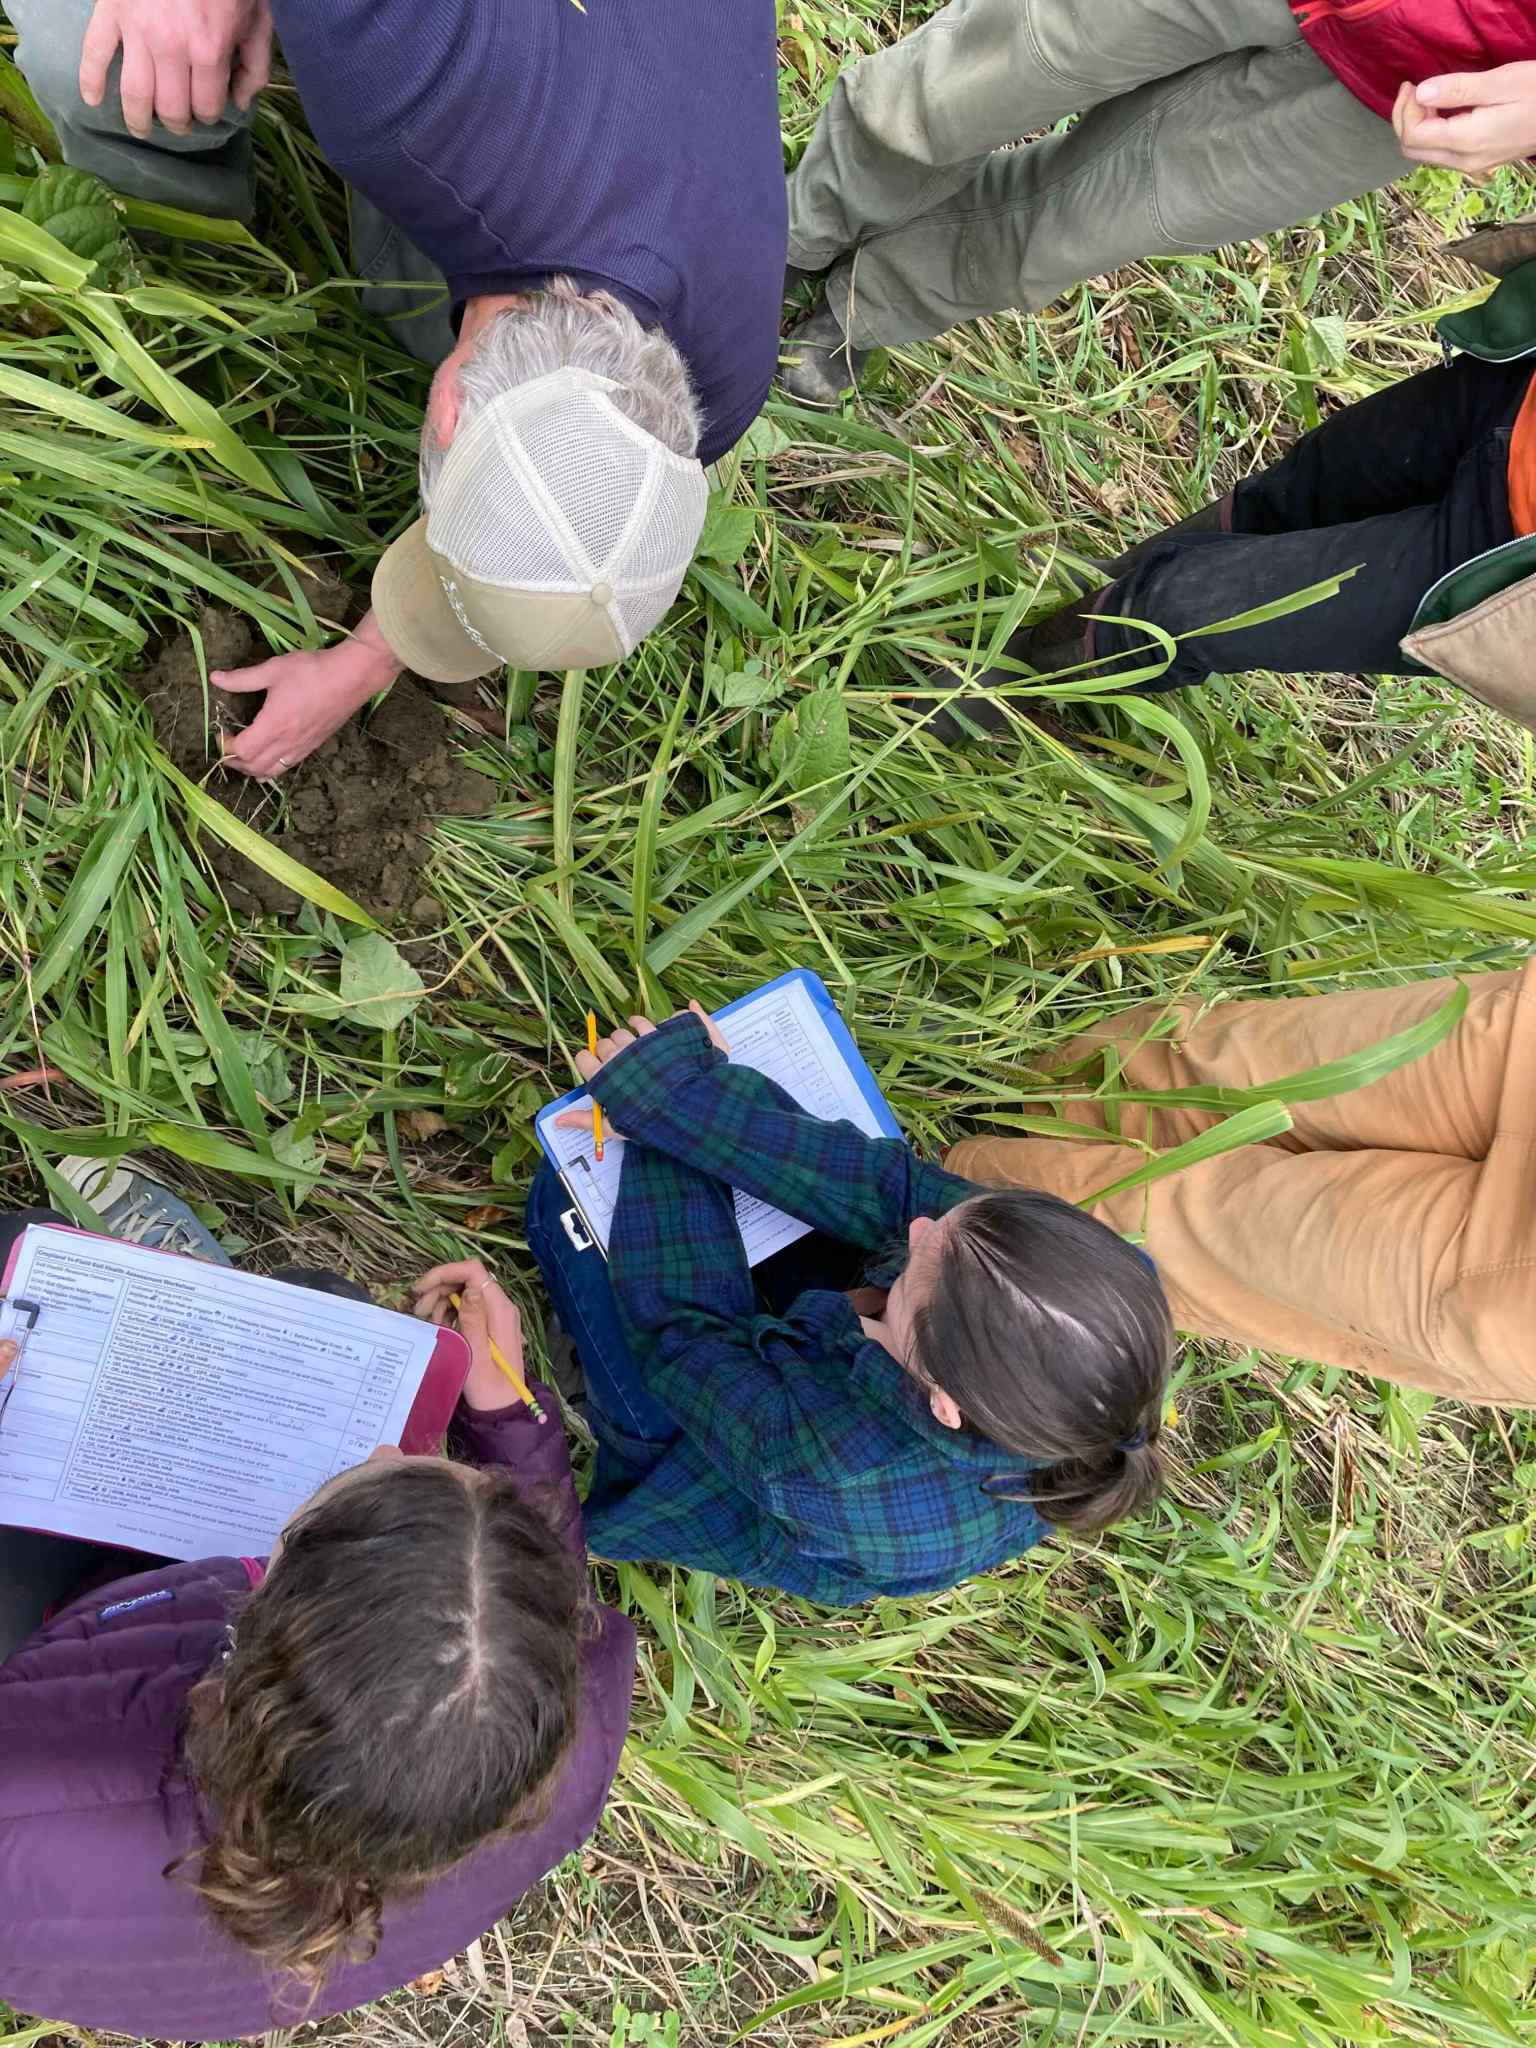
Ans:
[[[426,514],[373,575],[408,668],[469,682],[512,668],[602,668],[676,598],[709,483],[614,406],[618,385],[559,369],[494,397],[453,436]]]

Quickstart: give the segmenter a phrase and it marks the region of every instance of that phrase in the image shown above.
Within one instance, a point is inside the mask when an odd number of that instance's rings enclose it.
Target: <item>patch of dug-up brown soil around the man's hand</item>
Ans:
[[[209,670],[264,657],[238,612],[207,608],[199,618]],[[401,911],[430,922],[440,905],[422,885],[426,834],[434,817],[475,817],[496,801],[496,784],[465,768],[449,743],[442,711],[412,676],[401,676],[377,711],[348,725],[266,786],[219,768],[219,735],[238,731],[260,696],[203,692],[186,633],[139,676],[127,678],[150,707],[156,739],[172,762],[203,782],[236,817],[272,846],[344,889],[379,918]],[[205,854],[236,909],[289,915],[299,897],[244,854],[205,836]]]

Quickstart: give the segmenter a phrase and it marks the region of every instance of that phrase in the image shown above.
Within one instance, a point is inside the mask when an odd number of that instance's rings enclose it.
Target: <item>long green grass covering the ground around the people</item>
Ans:
[[[793,147],[887,33],[862,0],[786,14]],[[1120,1004],[1503,967],[1536,936],[1532,741],[1438,682],[1020,686],[1069,739],[991,754],[903,702],[1319,399],[1436,358],[1473,285],[1440,229],[1530,193],[1430,174],[903,350],[842,418],[770,403],[666,631],[616,676],[498,686],[502,739],[465,725],[500,801],[438,829],[442,926],[395,934],[424,993],[383,1028],[346,915],[229,915],[217,776],[176,784],[121,682],[205,604],[319,643],[295,565],[360,582],[412,516],[422,373],[356,315],[289,94],[262,160],[260,244],[141,248],[119,291],[0,215],[8,1202],[131,1149],[250,1260],[299,1241],[387,1288],[473,1233],[535,1307],[530,1112],[588,1001],[815,967],[932,1147],[1016,1118],[1032,1061]],[[4,1087],[37,1067],[61,1079]],[[922,1606],[616,1573],[643,1653],[600,1835],[436,1993],[326,2032],[1530,2038],[1536,1434],[1214,1354],[1180,1407],[1157,1516]]]

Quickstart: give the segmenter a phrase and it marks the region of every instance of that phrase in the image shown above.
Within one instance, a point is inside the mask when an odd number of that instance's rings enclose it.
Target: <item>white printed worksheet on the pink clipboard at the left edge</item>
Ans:
[[[287,1518],[397,1444],[438,1329],[141,1245],[29,1227],[39,1305],[0,1419],[0,1522],[160,1556],[264,1556]],[[0,1309],[0,1335],[20,1335]]]

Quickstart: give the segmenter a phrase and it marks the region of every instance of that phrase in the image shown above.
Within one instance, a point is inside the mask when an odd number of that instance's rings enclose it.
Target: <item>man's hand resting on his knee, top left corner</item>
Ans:
[[[141,139],[160,121],[190,135],[229,100],[246,113],[272,68],[266,0],[96,0],[80,45],[80,98],[100,106],[123,51],[123,121]]]

